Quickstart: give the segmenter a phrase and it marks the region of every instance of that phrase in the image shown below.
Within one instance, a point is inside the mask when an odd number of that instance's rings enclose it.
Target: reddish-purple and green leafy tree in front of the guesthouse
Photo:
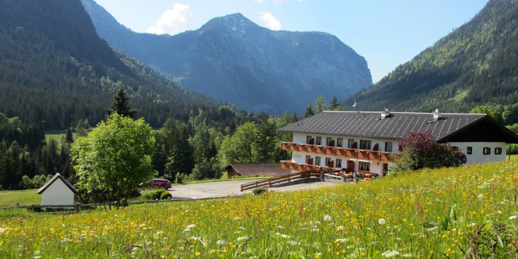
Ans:
[[[437,143],[431,133],[409,132],[399,141],[399,153],[393,171],[409,171],[422,168],[459,166],[466,163],[466,155],[448,143]]]

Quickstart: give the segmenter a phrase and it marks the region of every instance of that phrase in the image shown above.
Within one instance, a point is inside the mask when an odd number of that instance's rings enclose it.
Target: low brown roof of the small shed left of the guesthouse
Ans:
[[[223,169],[233,167],[244,177],[252,176],[281,176],[291,174],[290,170],[281,169],[279,163],[230,163]]]

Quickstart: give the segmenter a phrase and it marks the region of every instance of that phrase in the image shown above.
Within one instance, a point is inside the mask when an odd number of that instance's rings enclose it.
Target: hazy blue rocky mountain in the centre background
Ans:
[[[372,83],[365,59],[321,32],[271,31],[240,13],[178,35],[134,33],[82,0],[102,38],[185,88],[252,111],[303,112]]]

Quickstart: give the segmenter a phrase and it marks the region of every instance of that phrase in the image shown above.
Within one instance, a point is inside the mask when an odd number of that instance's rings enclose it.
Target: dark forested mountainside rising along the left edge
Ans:
[[[105,118],[124,87],[137,117],[161,126],[169,117],[215,107],[101,39],[79,0],[0,0],[0,112],[62,129]]]

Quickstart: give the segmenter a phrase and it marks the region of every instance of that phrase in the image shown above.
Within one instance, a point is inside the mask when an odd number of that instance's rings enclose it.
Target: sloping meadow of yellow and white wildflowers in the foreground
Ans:
[[[2,258],[518,256],[518,163],[112,211],[0,214]]]

